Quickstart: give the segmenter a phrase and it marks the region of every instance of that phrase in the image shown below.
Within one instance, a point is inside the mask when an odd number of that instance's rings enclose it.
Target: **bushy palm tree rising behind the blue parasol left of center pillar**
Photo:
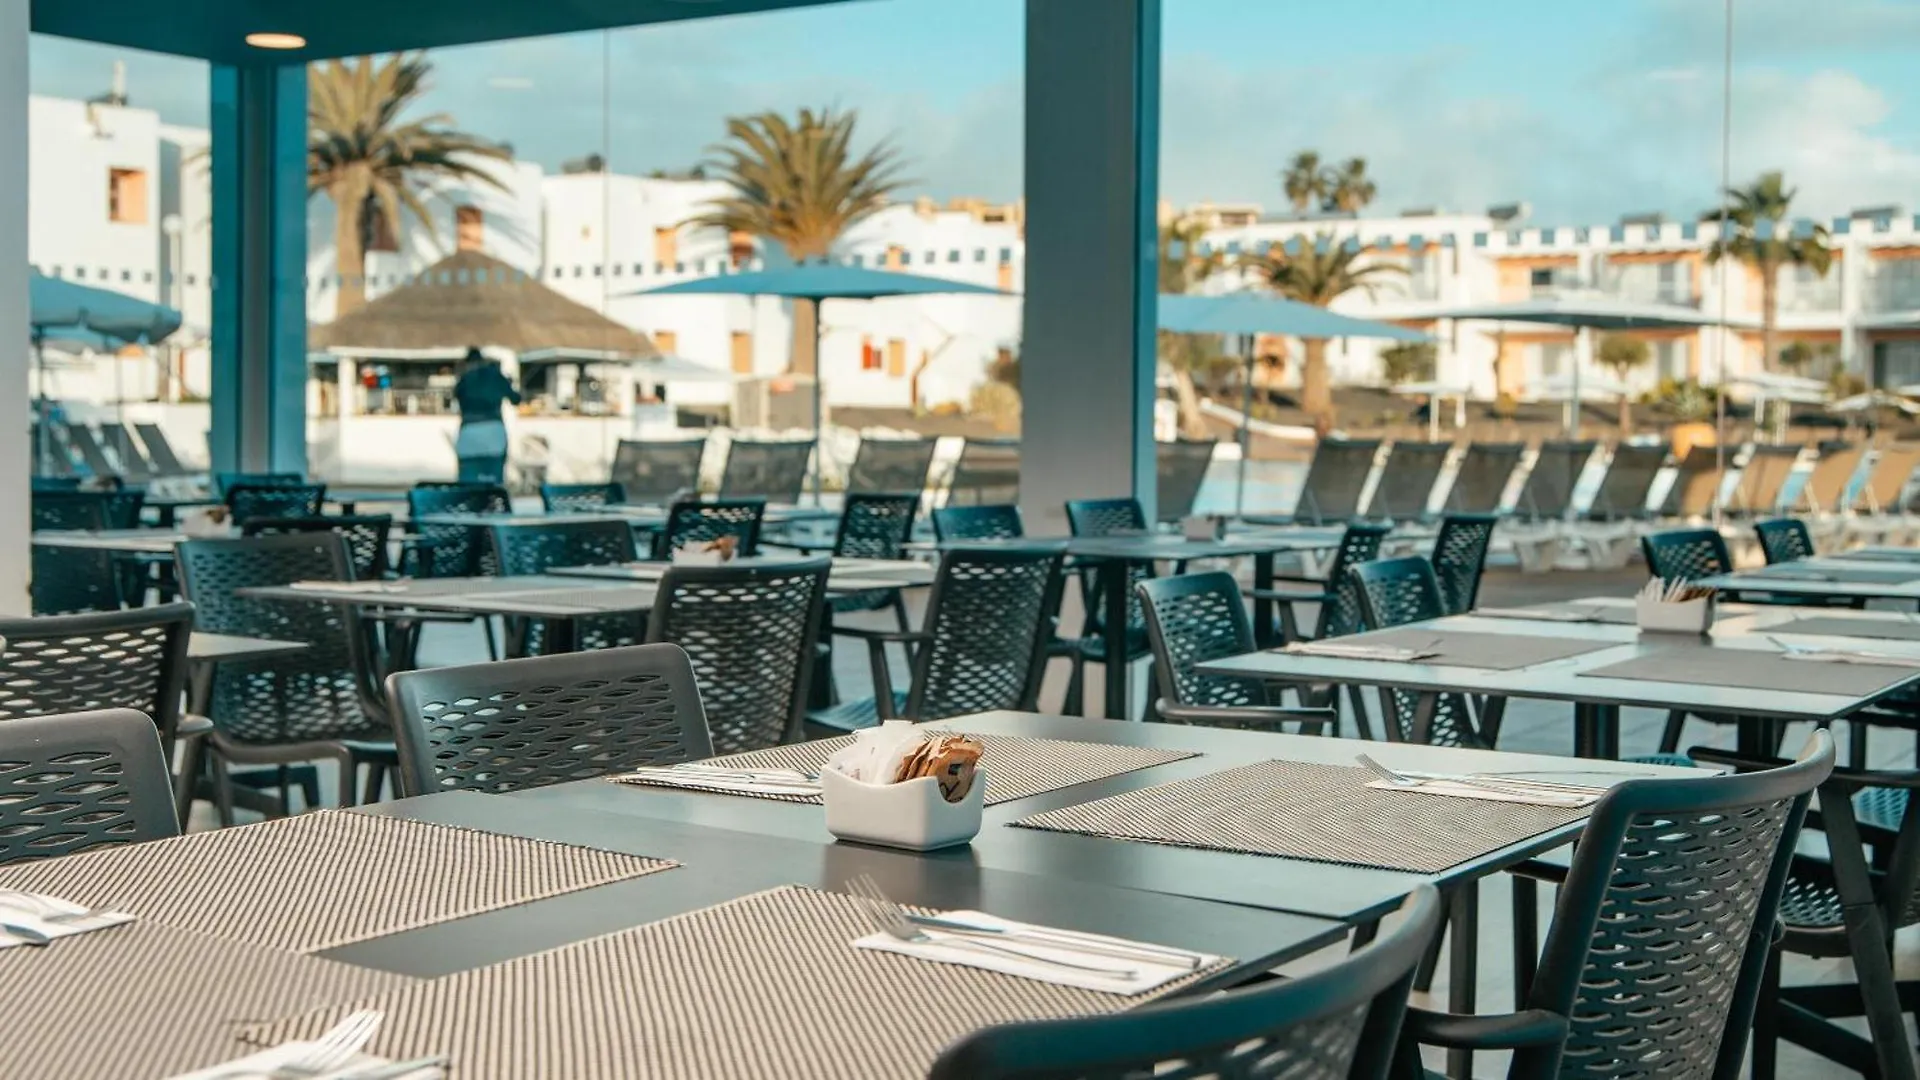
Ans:
[[[818,259],[852,225],[872,217],[908,181],[900,156],[881,140],[852,152],[858,113],[801,110],[795,119],[776,111],[728,117],[726,142],[710,146],[708,175],[733,192],[710,204],[693,225],[747,233],[780,244],[793,261]],[[789,371],[814,373],[818,306],[793,306]]]

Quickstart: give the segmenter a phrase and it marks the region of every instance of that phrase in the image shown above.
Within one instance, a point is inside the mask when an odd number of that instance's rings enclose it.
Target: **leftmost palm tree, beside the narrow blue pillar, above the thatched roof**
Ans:
[[[367,248],[413,217],[428,234],[434,219],[420,198],[430,181],[472,181],[503,188],[486,161],[505,146],[447,127],[451,117],[403,113],[426,92],[426,54],[386,60],[324,60],[307,67],[307,198],[334,204],[334,317],[367,302]]]

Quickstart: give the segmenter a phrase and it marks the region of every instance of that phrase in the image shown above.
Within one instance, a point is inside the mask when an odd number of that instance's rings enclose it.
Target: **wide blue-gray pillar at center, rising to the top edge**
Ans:
[[[1027,300],[1020,505],[1154,513],[1160,0],[1027,0]]]

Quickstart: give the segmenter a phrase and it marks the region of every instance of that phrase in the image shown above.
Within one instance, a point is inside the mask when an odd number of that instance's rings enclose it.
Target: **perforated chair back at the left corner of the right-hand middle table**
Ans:
[[[1144,580],[1139,586],[1160,696],[1175,705],[1269,705],[1267,684],[1202,675],[1198,665],[1256,650],[1240,582],[1227,571]]]

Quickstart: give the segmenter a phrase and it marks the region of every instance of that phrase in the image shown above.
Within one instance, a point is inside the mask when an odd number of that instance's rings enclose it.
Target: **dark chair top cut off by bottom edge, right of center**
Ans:
[[[1413,965],[1440,924],[1432,886],[1340,963],[1300,978],[1104,1017],[981,1028],[947,1047],[931,1080],[1380,1080],[1394,1061]]]

